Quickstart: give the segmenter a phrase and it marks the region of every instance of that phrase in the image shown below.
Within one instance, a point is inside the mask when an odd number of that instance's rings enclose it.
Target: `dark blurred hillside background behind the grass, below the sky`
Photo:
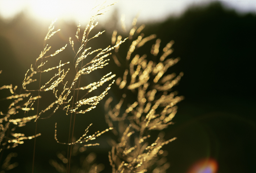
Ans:
[[[62,30],[54,37],[52,49],[68,43],[69,36],[76,32],[76,25],[58,21],[56,28]],[[98,26],[94,32],[104,28]],[[12,83],[21,88],[27,69],[43,49],[47,29],[47,25],[32,21],[26,13],[7,23],[0,19],[1,86]],[[145,36],[156,34],[162,40],[160,49],[175,40],[170,57],[181,57],[181,61],[171,67],[170,72],[184,72],[175,89],[185,96],[185,100],[178,103],[178,112],[173,119],[175,124],[165,130],[166,139],[178,138],[164,147],[171,163],[168,172],[187,173],[193,164],[206,158],[217,161],[218,173],[255,172],[255,29],[255,14],[237,14],[234,10],[224,9],[220,3],[191,7],[180,17],[170,17],[162,23],[146,23]],[[110,43],[111,35],[106,32],[94,46],[101,48]],[[150,52],[150,47],[145,45],[146,53]],[[72,62],[72,52],[67,50],[62,58]],[[110,63],[105,70],[118,73],[119,68],[112,66]],[[5,93],[0,93],[3,98]],[[114,94],[110,91],[108,96]],[[107,128],[103,102],[88,115],[77,116],[77,127],[83,127],[77,129],[77,137],[91,123],[92,133]],[[1,101],[0,104],[4,112],[7,103]],[[38,131],[42,136],[37,138],[36,172],[55,172],[49,159],[58,160],[56,152],[66,150],[66,146],[55,142],[54,124],[60,122],[59,140],[65,141],[69,127],[65,120],[69,121],[69,117],[59,111],[50,119],[39,121]],[[27,136],[34,135],[35,123],[31,124],[24,130]],[[103,172],[111,172],[107,158],[110,146],[106,143],[107,138],[112,137],[110,133],[96,141],[101,143],[100,146],[88,147],[84,152],[85,155],[96,152],[97,163],[105,164]],[[13,162],[17,161],[19,166],[9,172],[31,172],[33,144],[33,140],[27,140],[14,149],[4,150],[4,156],[9,152],[18,153]]]

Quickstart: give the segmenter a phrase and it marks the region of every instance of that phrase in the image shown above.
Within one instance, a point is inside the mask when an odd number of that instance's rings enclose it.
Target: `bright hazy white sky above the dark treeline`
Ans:
[[[118,9],[119,15],[125,16],[125,21],[131,23],[138,15],[141,22],[163,21],[170,15],[178,16],[191,5],[207,5],[216,0],[108,0],[106,4],[117,2],[108,8]],[[26,11],[32,18],[41,21],[52,21],[55,18],[64,18],[66,21],[87,22],[91,9],[103,0],[0,0],[0,17],[11,20],[15,15]],[[226,8],[235,9],[239,13],[256,10],[255,0],[222,0]],[[104,18],[109,18],[111,12],[106,12]]]

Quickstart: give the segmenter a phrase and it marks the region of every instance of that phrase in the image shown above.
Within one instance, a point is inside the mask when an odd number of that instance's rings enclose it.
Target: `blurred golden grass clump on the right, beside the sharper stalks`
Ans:
[[[133,28],[128,36],[130,40],[145,27],[145,25],[141,25],[137,28],[136,22],[137,19],[134,19]],[[117,31],[114,31],[111,39],[112,45],[118,43],[116,35]],[[165,173],[169,164],[162,156],[161,148],[176,139],[174,137],[165,141],[162,133],[159,133],[158,138],[150,145],[151,139],[148,134],[152,130],[163,130],[173,124],[172,119],[177,112],[176,104],[184,99],[182,96],[177,96],[177,92],[170,92],[173,86],[180,81],[183,72],[178,76],[175,73],[165,75],[167,70],[175,65],[180,58],[167,59],[173,52],[171,49],[173,40],[163,48],[163,53],[159,56],[160,39],[156,39],[155,44],[152,45],[151,55],[133,55],[136,49],[155,39],[156,35],[143,37],[144,34],[140,34],[132,41],[126,55],[126,64],[129,66],[126,66],[123,76],[116,80],[119,89],[123,90],[122,98],[113,108],[111,107],[113,100],[111,97],[105,103],[106,122],[109,127],[115,127],[116,123],[114,122],[117,122],[117,127],[112,131],[120,136],[119,142],[114,143],[109,152],[112,173]],[[119,52],[119,49],[115,50],[115,54]],[[114,57],[117,58],[120,55]],[[158,60],[150,60],[150,58],[156,59],[155,57],[159,57]],[[115,58],[116,65],[121,66],[120,61]],[[132,98],[127,98],[125,93],[128,93],[129,90],[132,95],[135,93],[137,99],[131,101]],[[129,103],[127,103],[128,100],[130,100]],[[124,129],[124,127],[126,128]]]

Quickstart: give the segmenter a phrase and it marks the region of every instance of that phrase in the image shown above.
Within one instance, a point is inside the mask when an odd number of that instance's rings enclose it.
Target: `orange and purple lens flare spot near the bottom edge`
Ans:
[[[188,173],[216,173],[218,164],[213,159],[203,159],[195,163]]]

